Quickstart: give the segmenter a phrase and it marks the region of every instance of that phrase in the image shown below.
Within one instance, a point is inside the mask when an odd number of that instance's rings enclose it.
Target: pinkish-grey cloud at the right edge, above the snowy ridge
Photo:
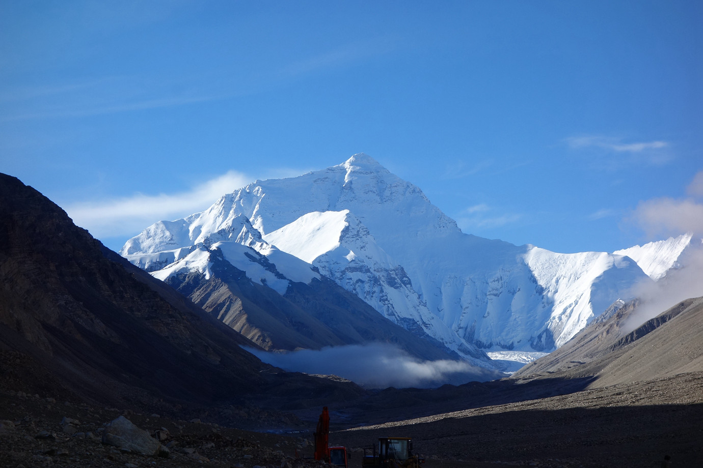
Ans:
[[[641,201],[627,221],[634,222],[650,238],[685,232],[703,234],[703,171],[694,176],[686,192],[689,198]]]

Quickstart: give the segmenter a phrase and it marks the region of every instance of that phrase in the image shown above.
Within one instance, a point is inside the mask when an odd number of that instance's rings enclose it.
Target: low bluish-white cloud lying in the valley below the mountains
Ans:
[[[385,343],[266,352],[247,348],[262,361],[307,374],[337,375],[367,388],[434,388],[493,380],[505,375],[450,359],[422,361]]]

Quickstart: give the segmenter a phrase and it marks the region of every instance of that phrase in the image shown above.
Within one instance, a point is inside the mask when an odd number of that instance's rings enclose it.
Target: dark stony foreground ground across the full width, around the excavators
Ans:
[[[686,373],[412,420],[403,420],[403,411],[397,410],[398,420],[372,426],[345,417],[349,413],[344,411],[352,408],[330,408],[330,444],[351,450],[352,468],[361,466],[363,449],[382,435],[413,437],[415,452],[425,457],[427,468],[658,468],[664,455],[671,456],[671,467],[701,467],[702,388],[703,373]],[[236,408],[236,413],[245,424],[251,419],[271,429],[278,424],[280,434],[210,422],[218,417],[214,409],[201,408],[201,417],[184,412],[183,417],[191,417],[185,420],[3,389],[0,467],[321,466],[305,458],[312,455],[314,420],[255,407]],[[153,442],[161,439],[164,449],[141,455],[134,447],[105,443],[110,422],[120,416]]]

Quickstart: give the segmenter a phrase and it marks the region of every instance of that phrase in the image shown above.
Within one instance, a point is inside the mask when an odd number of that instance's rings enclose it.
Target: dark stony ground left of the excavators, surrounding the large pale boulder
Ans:
[[[124,415],[149,432],[165,429],[168,457],[138,455],[101,442],[105,425]],[[0,393],[0,467],[236,467],[319,465],[309,439],[247,432],[198,420],[172,420],[116,408]],[[62,423],[63,422],[63,423]],[[299,456],[297,456],[299,455]]]

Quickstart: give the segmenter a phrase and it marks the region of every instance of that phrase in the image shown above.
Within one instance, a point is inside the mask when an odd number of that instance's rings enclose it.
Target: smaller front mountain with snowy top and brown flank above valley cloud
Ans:
[[[157,222],[120,253],[265,349],[378,341],[419,359],[458,357],[427,333],[419,333],[424,340],[418,343],[417,336],[384,319],[308,262],[264,241],[246,216],[231,210],[232,204],[227,195],[185,220]],[[467,356],[475,365],[491,368],[488,356],[475,347]]]

